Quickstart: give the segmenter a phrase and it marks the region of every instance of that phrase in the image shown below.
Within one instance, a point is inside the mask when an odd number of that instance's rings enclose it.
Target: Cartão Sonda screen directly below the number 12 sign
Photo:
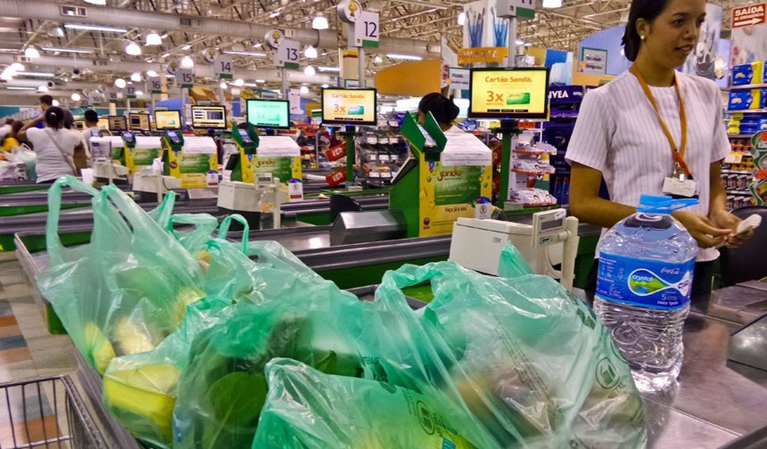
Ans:
[[[322,123],[375,125],[375,89],[323,89]]]

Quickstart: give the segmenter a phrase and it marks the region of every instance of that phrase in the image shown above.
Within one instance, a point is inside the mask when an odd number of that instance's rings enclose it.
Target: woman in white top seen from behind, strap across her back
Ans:
[[[38,155],[38,183],[51,183],[61,176],[77,172],[72,156],[74,147],[80,143],[80,136],[64,128],[64,110],[60,107],[49,107],[44,120],[44,129],[33,127],[37,120],[32,120],[21,128],[18,136],[28,139]]]

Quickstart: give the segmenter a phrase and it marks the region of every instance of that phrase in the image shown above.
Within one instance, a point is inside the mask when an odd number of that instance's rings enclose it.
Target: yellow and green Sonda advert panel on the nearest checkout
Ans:
[[[421,156],[419,236],[451,234],[453,222],[473,218],[476,200],[492,192],[492,171],[487,167],[443,167]]]

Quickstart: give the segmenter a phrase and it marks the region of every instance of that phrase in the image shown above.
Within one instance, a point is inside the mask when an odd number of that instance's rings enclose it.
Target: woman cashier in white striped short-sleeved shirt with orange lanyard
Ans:
[[[696,46],[705,0],[634,0],[623,38],[634,64],[584,97],[566,158],[571,211],[610,228],[634,214],[642,194],[695,196],[673,213],[698,242],[694,293],[710,290],[716,247],[738,247],[753,232],[726,208],[719,171],[730,152],[719,88],[677,72]],[[611,200],[600,198],[601,179]]]

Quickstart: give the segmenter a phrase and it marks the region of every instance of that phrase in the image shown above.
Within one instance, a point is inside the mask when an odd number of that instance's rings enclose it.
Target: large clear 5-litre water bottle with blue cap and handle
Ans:
[[[600,243],[594,312],[642,392],[671,388],[680,372],[698,245],[670,214],[696,203],[642,195],[637,213]]]

